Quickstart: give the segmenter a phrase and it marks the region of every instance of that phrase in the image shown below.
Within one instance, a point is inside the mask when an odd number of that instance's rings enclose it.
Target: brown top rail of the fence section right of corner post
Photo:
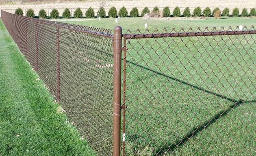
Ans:
[[[214,31],[214,32],[176,32],[176,33],[156,33],[156,34],[124,34],[126,39],[145,38],[166,38],[166,37],[194,37],[194,36],[217,36],[217,35],[248,35],[256,34],[256,30],[243,31]]]

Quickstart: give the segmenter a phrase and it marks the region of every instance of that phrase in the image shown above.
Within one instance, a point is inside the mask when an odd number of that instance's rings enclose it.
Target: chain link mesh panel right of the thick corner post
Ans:
[[[128,30],[126,155],[255,153],[255,34],[253,26]]]

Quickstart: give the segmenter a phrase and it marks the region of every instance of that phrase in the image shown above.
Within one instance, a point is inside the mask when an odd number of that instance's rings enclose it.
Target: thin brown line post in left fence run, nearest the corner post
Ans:
[[[61,91],[60,91],[60,27],[56,26],[56,98],[58,101],[61,100]]]

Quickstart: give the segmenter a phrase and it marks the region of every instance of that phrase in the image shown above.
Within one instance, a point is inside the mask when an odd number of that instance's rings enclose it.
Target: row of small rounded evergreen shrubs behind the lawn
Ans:
[[[218,7],[213,9],[213,12],[211,12],[209,7],[206,7],[204,9],[204,11],[202,11],[201,8],[198,6],[193,10],[193,16],[194,17],[199,17],[201,15],[204,15],[205,17],[214,16],[217,11],[221,12]],[[148,7],[145,7],[142,10],[141,16],[143,17],[145,15],[145,13],[150,13],[150,10],[148,9]],[[154,7],[154,9],[152,10],[151,13],[160,13],[160,9],[156,6],[156,7]],[[16,9],[15,14],[23,15],[22,9],[21,8]],[[82,10],[80,8],[75,10],[75,12],[74,12],[74,17],[75,18],[81,18],[82,15],[83,15],[83,13],[82,13]],[[97,15],[98,15],[98,17],[101,17],[101,18],[106,17],[105,9],[100,8],[100,10],[97,12]],[[121,7],[121,9],[118,12],[118,15],[120,17],[127,17],[128,16],[127,9],[124,6]],[[173,11],[172,15],[174,17],[180,17],[180,16],[190,17],[191,13],[190,13],[189,7],[187,7],[187,8],[184,9],[183,14],[181,15],[180,8],[177,6],[177,7],[174,8],[174,11]],[[221,15],[229,16],[230,15],[229,9],[225,8],[222,11]],[[28,9],[27,12],[26,12],[26,16],[34,17],[35,13],[34,13],[33,9]],[[38,16],[39,16],[39,18],[46,18],[47,17],[46,11],[44,9],[41,9],[39,11]],[[117,9],[114,6],[109,9],[108,16],[109,17],[117,17]],[[132,10],[130,11],[130,17],[138,17],[138,16],[139,16],[138,9],[136,7],[132,8]],[[170,17],[170,16],[171,16],[171,12],[170,12],[169,7],[168,6],[164,7],[163,8],[163,17]],[[239,9],[238,8],[234,8],[232,10],[232,16],[239,16]],[[250,13],[248,13],[247,9],[244,8],[242,13],[241,13],[241,16],[256,16],[256,10],[255,10],[255,8],[252,8],[250,10]],[[59,17],[59,11],[57,9],[52,9],[52,11],[50,13],[50,17],[51,18],[58,18]],[[66,8],[63,11],[62,17],[63,18],[71,18],[71,13],[70,13],[69,9]],[[94,17],[94,10],[91,7],[86,11],[85,17],[88,17],[88,18]]]

